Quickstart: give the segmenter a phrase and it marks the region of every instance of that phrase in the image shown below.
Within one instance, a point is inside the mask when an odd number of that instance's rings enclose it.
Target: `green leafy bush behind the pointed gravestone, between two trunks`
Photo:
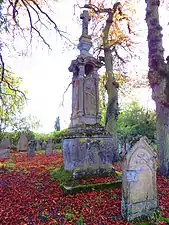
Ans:
[[[117,133],[120,142],[133,145],[141,136],[156,142],[156,113],[146,110],[136,101],[121,109],[117,120]]]

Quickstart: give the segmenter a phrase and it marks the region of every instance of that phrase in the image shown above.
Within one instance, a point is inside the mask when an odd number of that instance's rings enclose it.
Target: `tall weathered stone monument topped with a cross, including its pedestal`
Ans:
[[[63,141],[64,168],[74,176],[107,173],[112,171],[112,161],[117,161],[112,137],[99,124],[98,70],[102,64],[89,52],[92,42],[88,11],[83,11],[81,19],[80,55],[69,67],[73,73],[71,124]]]

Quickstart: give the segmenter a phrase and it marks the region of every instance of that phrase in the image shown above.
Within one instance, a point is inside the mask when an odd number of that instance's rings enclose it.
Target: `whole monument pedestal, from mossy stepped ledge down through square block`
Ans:
[[[63,141],[63,157],[65,170],[75,177],[111,172],[117,158],[112,138],[101,126],[70,129]]]

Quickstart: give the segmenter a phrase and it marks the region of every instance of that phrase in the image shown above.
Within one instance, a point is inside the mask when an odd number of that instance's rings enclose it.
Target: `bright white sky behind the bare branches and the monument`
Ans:
[[[75,0],[60,0],[52,5],[55,14],[50,14],[56,22],[58,21],[58,25],[62,29],[70,33],[71,40],[76,40],[81,35],[81,26],[76,21],[80,12],[76,8],[76,15],[73,16],[74,3],[76,3]],[[145,13],[145,5],[142,4],[141,7],[142,10],[140,6],[139,10]],[[140,15],[140,21],[144,21],[144,14]],[[141,25],[140,30],[143,31],[145,28],[146,24],[144,23],[144,25]],[[142,45],[146,49],[146,34],[143,36]],[[77,49],[65,45],[64,41],[60,40],[54,31],[45,33],[45,37],[51,44],[52,51],[49,52],[46,47],[42,48],[41,44],[37,45],[35,42],[30,56],[9,57],[8,65],[15,74],[23,78],[22,87],[29,91],[29,100],[23,114],[31,114],[40,120],[42,126],[37,132],[49,133],[54,130],[55,119],[58,116],[60,117],[62,129],[68,127],[70,123],[71,86],[65,94],[64,106],[61,106],[61,102],[63,93],[71,82],[72,74],[68,71],[68,67],[71,60],[74,60],[79,52]],[[18,41],[17,45],[21,45],[20,41]],[[128,68],[130,73],[136,74],[136,71],[140,70],[146,73],[147,71],[146,56],[140,53],[141,50],[144,52],[143,47],[139,45],[136,51],[143,58],[139,62],[131,62]],[[151,91],[148,89],[136,90],[133,98],[138,99],[145,107],[154,108],[155,106],[151,100]]]

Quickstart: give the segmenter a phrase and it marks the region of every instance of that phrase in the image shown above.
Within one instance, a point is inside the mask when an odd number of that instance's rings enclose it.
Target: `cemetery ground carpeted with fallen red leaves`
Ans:
[[[56,168],[62,165],[63,158],[59,152],[50,156],[38,152],[33,157],[27,157],[23,152],[12,152],[10,159],[1,160],[0,224],[149,224],[122,219],[121,187],[65,194],[59,186],[59,179],[66,175],[55,176]],[[120,165],[114,164],[114,167],[120,173]],[[113,179],[92,178],[81,180],[79,184],[108,183]],[[169,179],[157,174],[157,188],[161,217],[169,218]],[[169,219],[159,224],[169,224]]]

